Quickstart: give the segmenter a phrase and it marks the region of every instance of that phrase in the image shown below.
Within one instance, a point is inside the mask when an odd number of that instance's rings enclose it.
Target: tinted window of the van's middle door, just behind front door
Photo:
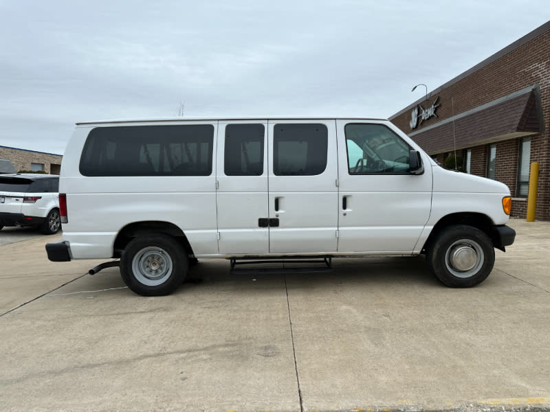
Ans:
[[[273,144],[276,176],[314,176],[327,168],[329,131],[324,124],[276,124]]]

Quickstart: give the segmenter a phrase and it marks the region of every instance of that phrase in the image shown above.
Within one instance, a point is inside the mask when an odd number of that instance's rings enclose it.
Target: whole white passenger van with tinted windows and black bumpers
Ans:
[[[171,293],[197,258],[425,253],[468,287],[515,237],[506,185],[441,168],[382,119],[79,123],[59,188],[48,258],[120,258],[140,295]]]

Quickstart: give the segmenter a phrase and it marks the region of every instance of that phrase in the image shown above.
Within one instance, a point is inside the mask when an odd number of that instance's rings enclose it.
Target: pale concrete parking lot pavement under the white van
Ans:
[[[0,410],[550,411],[550,222],[510,226],[476,288],[423,258],[238,276],[205,260],[168,297],[4,229]]]

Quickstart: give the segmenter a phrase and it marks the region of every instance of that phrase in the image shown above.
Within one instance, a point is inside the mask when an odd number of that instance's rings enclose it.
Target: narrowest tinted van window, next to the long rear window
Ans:
[[[228,124],[225,127],[223,172],[226,176],[263,174],[263,124]]]

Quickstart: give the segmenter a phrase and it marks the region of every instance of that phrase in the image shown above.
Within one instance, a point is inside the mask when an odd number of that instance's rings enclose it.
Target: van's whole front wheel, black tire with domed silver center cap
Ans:
[[[489,237],[476,227],[454,225],[431,242],[426,262],[432,274],[450,288],[470,288],[483,282],[494,266]]]

